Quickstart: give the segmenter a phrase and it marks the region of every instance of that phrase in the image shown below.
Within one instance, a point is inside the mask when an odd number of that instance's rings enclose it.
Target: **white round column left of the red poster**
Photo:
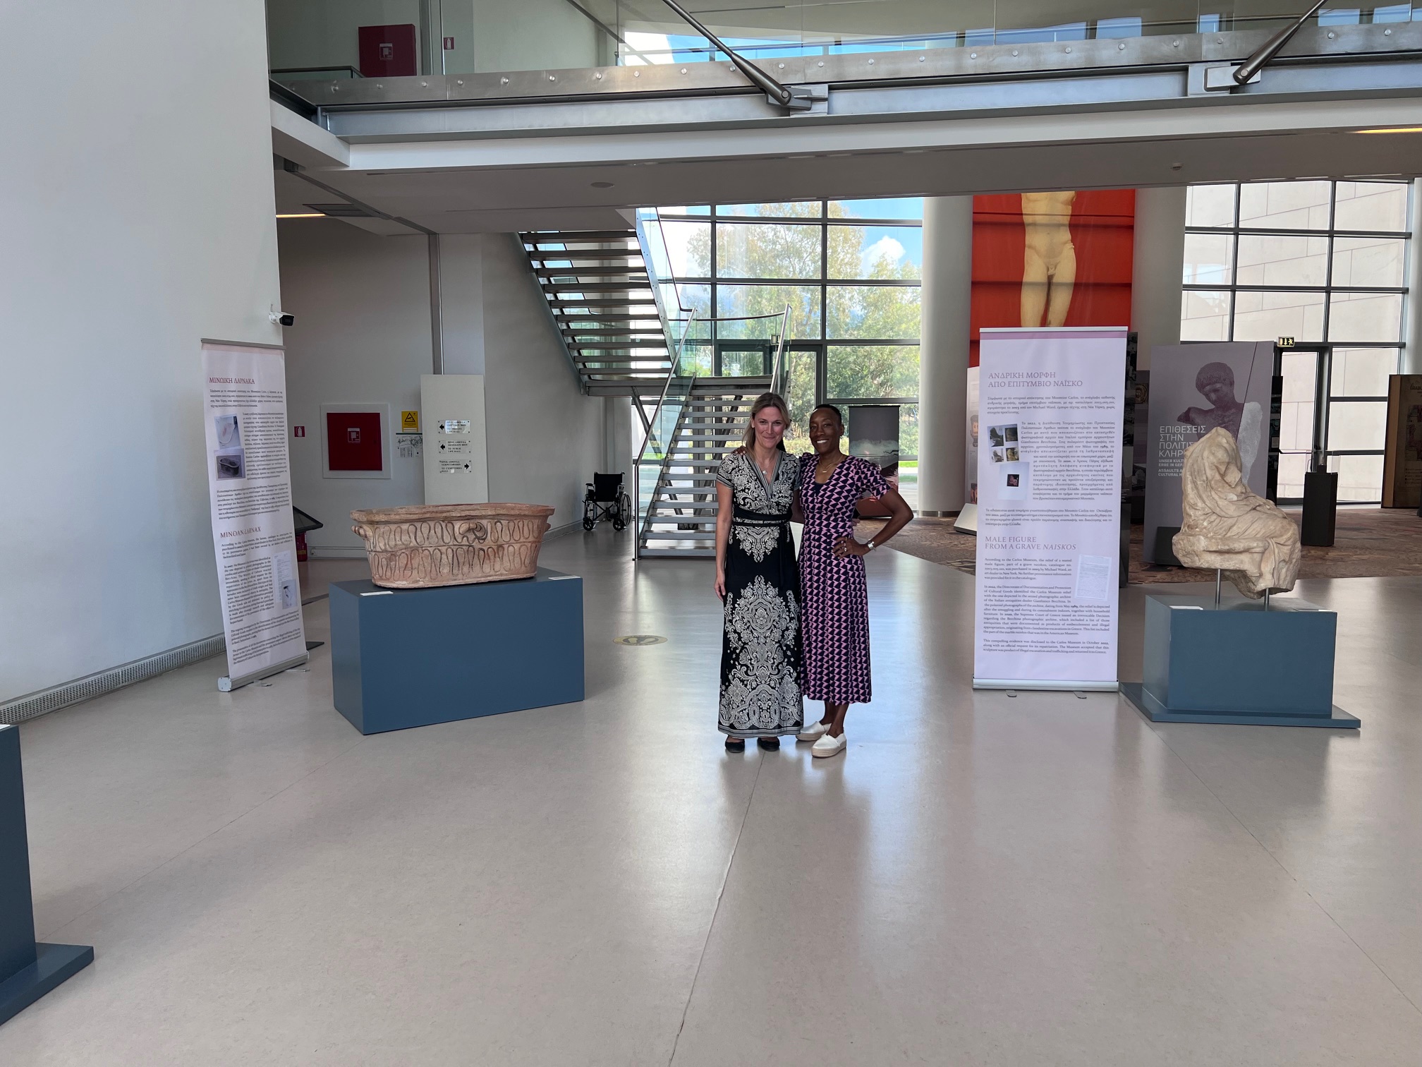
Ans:
[[[963,508],[973,290],[973,198],[923,201],[923,340],[919,349],[919,514]]]

